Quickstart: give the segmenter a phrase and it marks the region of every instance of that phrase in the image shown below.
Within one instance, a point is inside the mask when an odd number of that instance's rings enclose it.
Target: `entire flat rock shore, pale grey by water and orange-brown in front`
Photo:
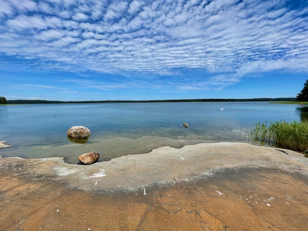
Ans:
[[[61,158],[0,158],[0,225],[3,230],[303,230],[308,161],[286,151],[197,144],[90,166]]]

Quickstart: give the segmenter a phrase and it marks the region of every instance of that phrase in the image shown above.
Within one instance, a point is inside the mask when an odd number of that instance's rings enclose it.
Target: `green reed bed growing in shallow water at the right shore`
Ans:
[[[308,151],[308,121],[275,121],[270,124],[256,123],[250,131],[249,141],[260,141],[298,151]]]

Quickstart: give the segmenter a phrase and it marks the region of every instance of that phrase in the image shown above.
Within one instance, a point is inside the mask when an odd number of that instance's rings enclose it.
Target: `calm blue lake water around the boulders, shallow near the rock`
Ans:
[[[305,105],[268,102],[6,105],[0,106],[0,140],[13,147],[0,155],[59,156],[77,163],[78,155],[92,151],[104,161],[166,145],[243,142],[255,122],[300,120],[307,112]],[[185,122],[189,128],[182,126]],[[86,144],[67,138],[67,129],[78,125],[91,131]]]

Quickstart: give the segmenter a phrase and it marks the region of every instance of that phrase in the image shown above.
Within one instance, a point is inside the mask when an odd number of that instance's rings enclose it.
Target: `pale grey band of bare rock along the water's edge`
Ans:
[[[276,148],[277,149],[277,148]],[[239,167],[271,167],[308,176],[308,158],[298,152],[246,143],[208,143],[187,145],[182,148],[162,147],[151,152],[122,156],[93,165],[67,164],[63,158],[22,159],[1,158],[0,163],[20,163],[21,172],[49,176],[66,181],[71,188],[92,191],[93,184],[103,188],[135,188],[151,184],[169,184],[175,177],[194,180],[206,177],[213,170]],[[283,150],[283,149],[281,149]],[[133,158],[133,159],[132,159]],[[15,167],[16,169],[16,167]],[[100,173],[105,176],[101,177]],[[18,173],[18,172],[17,172]]]

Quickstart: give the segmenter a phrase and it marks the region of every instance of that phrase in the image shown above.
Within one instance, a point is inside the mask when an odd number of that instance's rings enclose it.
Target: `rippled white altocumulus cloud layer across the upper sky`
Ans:
[[[73,72],[213,73],[179,84],[183,90],[224,87],[256,72],[307,73],[308,7],[292,2],[0,0],[0,52]]]

